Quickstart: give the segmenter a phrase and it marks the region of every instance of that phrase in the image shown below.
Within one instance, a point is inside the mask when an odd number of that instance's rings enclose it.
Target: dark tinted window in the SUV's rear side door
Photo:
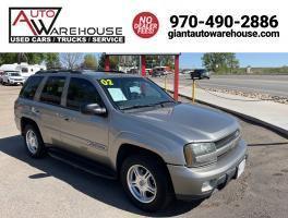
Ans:
[[[64,84],[64,76],[48,77],[40,95],[40,101],[51,105],[60,105]]]

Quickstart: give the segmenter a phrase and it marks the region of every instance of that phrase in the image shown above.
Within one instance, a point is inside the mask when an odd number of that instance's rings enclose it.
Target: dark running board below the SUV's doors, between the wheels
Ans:
[[[76,169],[83,170],[93,175],[106,178],[109,180],[117,179],[116,172],[108,169],[107,167],[104,167],[100,164],[97,164],[96,161],[74,155],[67,150],[62,150],[58,148],[49,148],[48,155],[57,160],[60,160],[67,165],[70,165]]]

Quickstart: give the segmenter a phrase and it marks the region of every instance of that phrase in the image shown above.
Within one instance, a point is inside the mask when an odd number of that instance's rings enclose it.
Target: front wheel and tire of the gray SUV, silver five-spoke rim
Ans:
[[[139,169],[139,174],[143,175],[147,172],[146,170],[148,170],[152,177],[148,177],[148,180],[144,181],[144,184],[143,178],[139,182],[134,181],[134,183],[137,184],[133,186],[129,181],[131,181],[131,178],[135,180],[135,177],[133,178],[135,168]],[[163,209],[171,203],[173,199],[173,192],[170,178],[166,171],[165,166],[163,166],[157,158],[148,156],[130,156],[123,161],[120,172],[121,182],[128,197],[136,207],[152,213]],[[141,201],[141,196],[137,194],[140,193],[139,186],[141,189],[146,189],[147,185],[155,194],[146,190],[144,191],[144,196],[146,196],[146,198]]]

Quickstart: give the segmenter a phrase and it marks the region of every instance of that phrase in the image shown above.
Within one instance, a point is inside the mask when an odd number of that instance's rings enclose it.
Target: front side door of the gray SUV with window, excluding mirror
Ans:
[[[105,161],[108,145],[108,118],[83,114],[80,107],[97,102],[104,106],[94,84],[82,77],[71,77],[62,113],[61,138],[65,148],[99,161]]]

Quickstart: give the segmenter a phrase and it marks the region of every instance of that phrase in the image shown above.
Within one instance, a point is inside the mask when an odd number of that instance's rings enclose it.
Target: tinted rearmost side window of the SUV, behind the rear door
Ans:
[[[26,99],[33,99],[37,88],[39,87],[44,76],[31,76],[24,84],[20,92],[20,97]]]

